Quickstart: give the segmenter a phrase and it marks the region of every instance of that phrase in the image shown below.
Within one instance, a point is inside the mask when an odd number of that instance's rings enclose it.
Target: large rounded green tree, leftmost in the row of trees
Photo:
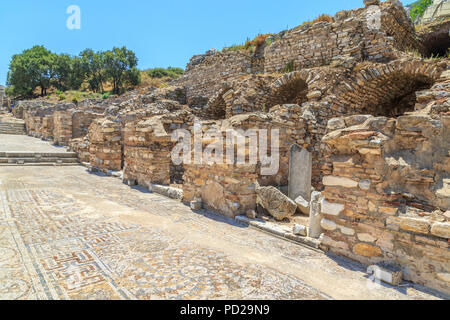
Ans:
[[[12,57],[7,76],[7,84],[13,96],[33,96],[36,88],[41,95],[47,94],[55,77],[54,62],[56,55],[43,46],[34,46]]]

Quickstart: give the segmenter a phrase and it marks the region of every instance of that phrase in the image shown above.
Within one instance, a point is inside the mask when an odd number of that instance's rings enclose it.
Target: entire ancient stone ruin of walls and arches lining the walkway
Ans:
[[[170,87],[80,104],[20,101],[13,113],[29,135],[70,146],[91,169],[123,171],[124,182],[196,209],[287,225],[323,250],[449,292],[449,59],[416,54],[448,42],[417,34],[398,1],[364,3],[254,52],[194,56]],[[279,170],[174,164],[172,133],[194,136],[196,123],[201,151],[209,129],[223,140],[230,129],[279,130]]]

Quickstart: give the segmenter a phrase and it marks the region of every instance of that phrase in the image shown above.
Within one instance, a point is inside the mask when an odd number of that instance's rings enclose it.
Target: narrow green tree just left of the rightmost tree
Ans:
[[[86,49],[80,53],[81,70],[85,74],[89,88],[94,92],[103,92],[105,81],[105,54]]]

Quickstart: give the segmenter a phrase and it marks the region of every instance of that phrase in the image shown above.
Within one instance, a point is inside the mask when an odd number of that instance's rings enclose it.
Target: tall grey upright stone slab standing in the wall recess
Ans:
[[[289,198],[301,196],[311,201],[312,154],[297,144],[291,147],[289,163]]]

